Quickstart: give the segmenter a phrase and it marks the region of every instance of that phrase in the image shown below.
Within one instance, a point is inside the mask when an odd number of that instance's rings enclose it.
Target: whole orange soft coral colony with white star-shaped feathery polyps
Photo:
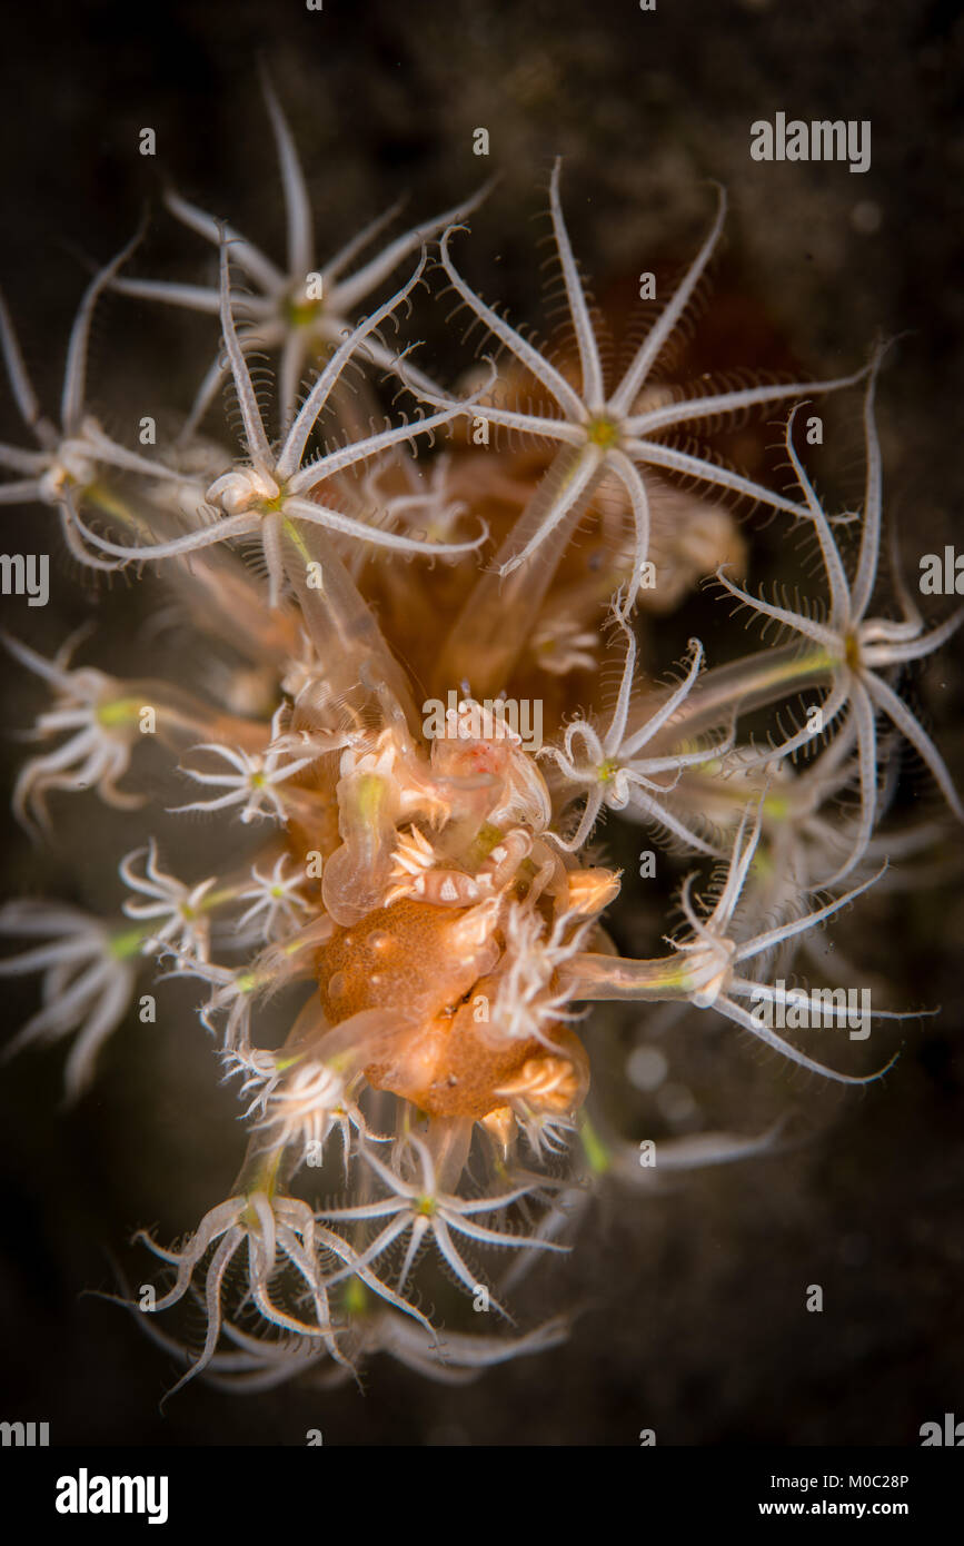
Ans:
[[[891,1022],[910,1010],[871,1006],[859,1039],[873,1027],[873,1051],[856,1064],[844,1002],[808,997],[822,1019],[806,1022],[786,980],[814,931],[882,881],[890,849],[894,861],[913,852],[913,833],[882,826],[904,741],[961,818],[898,676],[959,615],[927,631],[904,589],[902,620],[874,597],[879,349],[814,380],[670,377],[723,192],[683,280],[641,342],[624,340],[627,365],[610,379],[559,162],[548,207],[569,334],[550,354],[456,266],[487,190],[371,255],[389,216],[375,221],[315,267],[314,213],[270,88],[267,111],[284,269],[168,195],[216,249],[218,283],[130,277],[133,247],[111,261],[77,315],[59,428],[0,306],[12,396],[37,441],[0,447],[0,502],[54,507],[104,586],[117,570],[156,577],[198,662],[192,680],[122,680],[77,663],[90,642],[49,660],[8,640],[51,694],[14,809],[48,839],[56,804],[96,792],[116,816],[124,890],[113,920],[9,903],[0,923],[26,948],[0,976],[45,974],[42,1008],[12,1047],[74,1037],[71,1098],[139,982],[153,971],[199,985],[198,1019],[235,1081],[247,1149],[230,1195],[185,1220],[179,1246],[141,1237],[162,1282],[127,1300],[175,1354],[179,1385],[351,1379],[377,1351],[451,1379],[561,1339],[556,1314],[513,1323],[504,1254],[513,1280],[539,1262],[552,1272],[579,1245],[576,1194],[646,1180],[604,1108],[596,1074],[612,1028],[593,1003],[695,1010],[813,1079],[870,1084],[893,1065]],[[85,408],[91,318],[108,291],[119,308],[181,306],[219,326],[181,433],[150,450]],[[416,363],[416,306],[448,315],[462,385]],[[467,320],[480,340],[468,377]],[[278,374],[270,408],[263,354]],[[233,447],[210,428],[224,383]],[[796,407],[854,386],[865,499],[859,515],[831,516],[794,442]],[[789,492],[712,447],[714,427],[752,414],[780,419]],[[816,538],[827,598],[794,609],[743,589],[755,510]],[[701,580],[715,580],[720,615],[735,600],[782,638],[717,660],[712,640],[691,637],[674,659],[663,618]],[[782,711],[800,703],[805,722],[788,734]],[[161,813],[173,839],[154,830]],[[219,835],[216,864],[195,860],[199,821]],[[692,866],[683,928],[663,920],[664,945],[640,957],[610,932],[616,898],[640,881],[602,847],[633,826],[667,872],[680,855]],[[280,1027],[290,994],[300,1005]],[[717,1056],[729,1053],[721,1040]],[[704,1139],[661,1141],[666,1166],[760,1152],[777,1129]],[[176,1320],[195,1300],[199,1343],[190,1317]]]

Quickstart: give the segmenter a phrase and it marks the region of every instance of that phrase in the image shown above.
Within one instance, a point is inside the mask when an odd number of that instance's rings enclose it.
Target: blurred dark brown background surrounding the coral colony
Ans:
[[[53,407],[88,267],[127,241],[147,203],[136,269],[196,277],[202,243],[158,212],[162,178],[278,250],[258,59],[301,147],[321,254],[402,192],[419,218],[502,173],[460,252],[514,317],[539,315],[544,223],[530,216],[544,210],[555,155],[599,292],[692,252],[712,176],[731,196],[721,288],[751,295],[759,328],[805,368],[854,368],[874,334],[908,332],[881,385],[881,430],[888,509],[915,574],[922,552],[961,529],[962,45],[958,8],[944,0],[658,0],[652,14],[633,0],[20,6],[5,15],[0,62],[0,283]],[[871,170],[752,162],[749,124],[777,110],[870,119]],[[145,125],[156,161],[137,155]],[[471,155],[476,127],[490,130],[488,162]],[[463,357],[442,323],[429,317],[426,329],[426,365],[431,356],[457,371]],[[749,329],[734,366],[755,363],[752,343]],[[182,411],[213,346],[202,318],[110,300],[94,329],[91,407],[122,436],[131,402],[137,417]],[[22,442],[6,390],[0,416],[0,436]],[[853,501],[857,405],[834,424],[828,465]],[[34,533],[48,512],[2,515],[6,550],[42,550]],[[53,535],[48,547],[57,552]],[[779,564],[779,549],[771,530],[762,563]],[[91,609],[83,577],[65,560],[51,567],[43,612],[2,603],[3,626],[46,649]],[[97,592],[102,621],[83,659],[147,671],[145,608],[162,594],[154,581]],[[742,652],[742,625],[714,617],[714,646]],[[667,663],[704,618],[698,600],[666,625]],[[190,673],[190,640],[167,648],[168,665]],[[23,673],[6,676],[12,731],[40,694]],[[959,649],[921,673],[918,702],[959,773]],[[23,751],[8,739],[3,754],[9,779]],[[901,804],[936,809],[913,765]],[[100,807],[82,805],[54,805],[56,852],[9,833],[9,894],[116,906],[113,829]],[[619,943],[632,946],[646,921],[624,909]],[[862,1098],[762,1062],[723,1022],[683,1030],[674,1076],[698,1095],[703,1127],[759,1132],[791,1107],[811,1136],[653,1198],[604,1190],[572,1265],[545,1289],[553,1308],[586,1306],[569,1345],[467,1388],[380,1360],[366,1394],[232,1399],[192,1385],[161,1416],[167,1359],[122,1311],[79,1294],[108,1286],[105,1248],[151,1221],[176,1235],[230,1184],[239,1130],[192,1016],[196,996],[170,989],[158,1027],[119,1033],[70,1115],[59,1110],[60,1053],[17,1061],[0,1095],[2,1415],[49,1421],[59,1444],[287,1444],[309,1427],[326,1444],[632,1444],[643,1427],[660,1444],[918,1442],[924,1421],[964,1416],[962,925],[959,869],[942,889],[896,889],[850,915],[842,949],[887,976],[894,1006],[944,1005],[939,1019],[910,1023],[896,1073]],[[9,1031],[34,1003],[29,986],[15,989],[0,988]],[[632,1023],[599,1022],[592,1036],[618,1085]],[[624,1096],[627,1132],[650,1132],[633,1101]],[[823,1286],[823,1314],[803,1308],[810,1283]],[[538,1299],[528,1308],[538,1319]]]

